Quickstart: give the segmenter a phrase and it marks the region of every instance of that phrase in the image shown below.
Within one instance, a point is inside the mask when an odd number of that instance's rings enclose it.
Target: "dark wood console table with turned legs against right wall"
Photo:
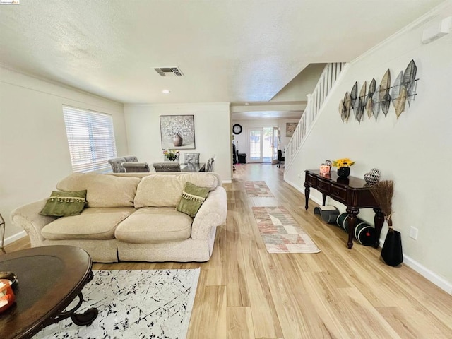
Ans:
[[[379,204],[371,194],[371,187],[363,179],[357,177],[338,177],[336,172],[320,174],[320,171],[311,169],[304,172],[304,195],[306,196],[306,205],[304,208],[308,209],[309,191],[311,187],[321,192],[323,197],[322,206],[325,206],[327,196],[347,206],[346,210],[349,216],[347,247],[349,249],[353,246],[356,216],[359,214],[359,209],[373,208],[375,212],[374,222],[376,231],[374,247],[378,248],[384,215],[381,212]]]

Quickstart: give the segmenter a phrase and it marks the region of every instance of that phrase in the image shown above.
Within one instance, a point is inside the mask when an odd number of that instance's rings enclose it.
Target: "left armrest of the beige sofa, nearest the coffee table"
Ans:
[[[22,227],[27,232],[32,247],[41,246],[42,241],[45,239],[41,234],[42,228],[57,219],[57,217],[39,214],[46,202],[47,198],[28,203],[16,208],[11,213],[11,222],[16,226]]]

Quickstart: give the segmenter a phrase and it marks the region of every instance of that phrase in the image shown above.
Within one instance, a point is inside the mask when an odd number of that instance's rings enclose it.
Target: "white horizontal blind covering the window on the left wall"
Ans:
[[[109,114],[63,106],[73,172],[109,172],[117,157],[113,119]]]

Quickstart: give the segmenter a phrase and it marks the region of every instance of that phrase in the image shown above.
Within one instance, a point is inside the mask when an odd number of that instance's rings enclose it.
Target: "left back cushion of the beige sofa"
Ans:
[[[88,207],[133,206],[137,177],[116,177],[109,174],[73,173],[57,184],[61,191],[87,190]]]

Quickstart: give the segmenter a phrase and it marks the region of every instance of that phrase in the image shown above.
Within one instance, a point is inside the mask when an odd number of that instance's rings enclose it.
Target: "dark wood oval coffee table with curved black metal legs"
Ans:
[[[42,328],[71,318],[89,326],[97,309],[77,314],[83,302],[82,289],[93,279],[92,261],[75,246],[42,246],[0,256],[0,271],[18,276],[16,304],[0,313],[1,339],[30,338]],[[65,311],[78,297],[78,304]]]

